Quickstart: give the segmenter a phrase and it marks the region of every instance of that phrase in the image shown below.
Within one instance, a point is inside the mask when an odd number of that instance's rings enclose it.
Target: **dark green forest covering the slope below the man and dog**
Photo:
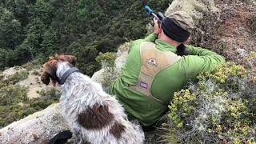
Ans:
[[[169,3],[153,0],[150,6],[161,11]],[[138,0],[1,0],[0,70],[74,54],[78,68],[94,74],[99,52],[143,38],[150,18]]]

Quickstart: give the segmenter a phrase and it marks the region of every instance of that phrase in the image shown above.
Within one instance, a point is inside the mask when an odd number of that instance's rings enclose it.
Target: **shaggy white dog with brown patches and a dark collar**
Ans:
[[[63,117],[74,134],[75,143],[140,144],[145,140],[141,126],[130,122],[122,105],[74,67],[77,58],[55,55],[42,66],[41,81],[61,91]]]

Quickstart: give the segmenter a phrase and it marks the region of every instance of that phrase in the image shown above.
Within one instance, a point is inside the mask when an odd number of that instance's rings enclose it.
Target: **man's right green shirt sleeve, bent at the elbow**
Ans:
[[[183,57],[187,78],[195,78],[199,73],[213,70],[215,66],[226,62],[222,55],[213,51],[194,46],[188,48],[191,55]]]

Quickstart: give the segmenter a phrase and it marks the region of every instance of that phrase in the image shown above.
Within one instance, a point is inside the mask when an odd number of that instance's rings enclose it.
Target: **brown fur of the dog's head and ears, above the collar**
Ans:
[[[53,85],[58,82],[58,76],[56,74],[58,62],[69,62],[73,66],[77,62],[77,58],[73,55],[58,55],[55,54],[54,57],[50,57],[49,61],[42,65],[41,81],[49,85],[50,79]]]

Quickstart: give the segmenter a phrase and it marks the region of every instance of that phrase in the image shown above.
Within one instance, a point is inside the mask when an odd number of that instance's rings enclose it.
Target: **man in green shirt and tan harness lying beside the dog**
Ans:
[[[154,18],[154,34],[131,43],[122,76],[109,92],[122,102],[129,117],[143,126],[153,125],[165,113],[174,91],[202,71],[225,62],[221,55],[194,46],[187,46],[190,55],[175,54],[190,38],[193,27],[188,14],[175,12],[162,22]]]

